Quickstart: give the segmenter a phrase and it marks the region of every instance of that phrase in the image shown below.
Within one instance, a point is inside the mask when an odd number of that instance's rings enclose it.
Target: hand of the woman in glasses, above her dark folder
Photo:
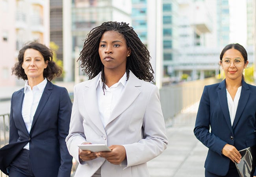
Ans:
[[[236,149],[235,146],[232,146],[230,144],[226,144],[223,149],[222,153],[224,156],[228,157],[232,162],[237,162],[239,163],[241,161],[241,154],[239,151]]]

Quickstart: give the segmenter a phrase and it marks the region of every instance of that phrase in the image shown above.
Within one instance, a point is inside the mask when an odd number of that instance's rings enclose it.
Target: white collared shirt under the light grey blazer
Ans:
[[[104,92],[102,90],[103,82],[101,80],[101,74],[99,74],[98,82],[96,84],[96,92],[97,92],[97,101],[98,101],[98,108],[100,111],[100,118],[102,120],[102,123],[104,127],[108,124],[108,120],[110,117],[111,112],[113,111],[113,108],[119,101],[122,92],[124,90],[124,87],[126,85],[126,72],[124,73],[124,76],[121,77],[121,79],[112,85],[111,87],[108,87],[106,85],[106,90]]]

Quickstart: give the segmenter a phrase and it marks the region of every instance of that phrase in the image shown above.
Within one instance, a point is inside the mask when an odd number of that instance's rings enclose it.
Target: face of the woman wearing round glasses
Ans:
[[[238,64],[240,59],[242,59],[241,64]],[[226,66],[227,64],[225,65],[224,62],[225,63],[229,62],[230,66]],[[241,54],[241,52],[239,52],[239,50],[231,48],[224,53],[222,57],[222,62],[220,62],[220,64],[224,70],[226,79],[235,80],[235,79],[240,79],[242,77],[243,69],[248,65],[248,61],[245,63],[245,59],[243,58],[243,55]]]

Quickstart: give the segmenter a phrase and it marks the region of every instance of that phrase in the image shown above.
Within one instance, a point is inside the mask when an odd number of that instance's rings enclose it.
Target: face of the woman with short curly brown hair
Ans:
[[[43,55],[32,48],[27,49],[24,52],[22,68],[28,79],[44,79],[43,72],[48,65],[48,61],[45,62]]]

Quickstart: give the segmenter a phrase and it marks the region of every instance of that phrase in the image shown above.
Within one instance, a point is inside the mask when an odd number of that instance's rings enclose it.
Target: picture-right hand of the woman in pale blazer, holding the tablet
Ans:
[[[122,145],[109,146],[111,152],[98,152],[98,157],[103,157],[111,164],[119,165],[126,158],[126,151]]]

